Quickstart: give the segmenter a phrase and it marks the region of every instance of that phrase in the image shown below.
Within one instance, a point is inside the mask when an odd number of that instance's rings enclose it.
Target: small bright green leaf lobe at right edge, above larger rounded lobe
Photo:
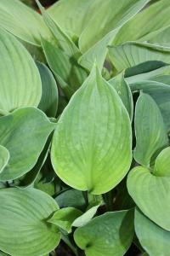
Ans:
[[[153,173],[159,177],[170,176],[170,147],[163,149],[157,156]]]

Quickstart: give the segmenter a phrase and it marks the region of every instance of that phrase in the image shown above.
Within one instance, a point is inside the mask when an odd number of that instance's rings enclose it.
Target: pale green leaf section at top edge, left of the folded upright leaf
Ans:
[[[91,3],[91,0],[60,0],[48,9],[48,14],[65,32],[79,37],[88,25],[87,15]]]

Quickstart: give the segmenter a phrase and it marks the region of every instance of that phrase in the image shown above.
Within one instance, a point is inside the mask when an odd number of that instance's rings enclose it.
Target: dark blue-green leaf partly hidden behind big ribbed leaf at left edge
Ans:
[[[49,117],[55,117],[58,108],[58,88],[53,74],[47,66],[37,62],[37,67],[42,79],[42,99],[38,105]]]

